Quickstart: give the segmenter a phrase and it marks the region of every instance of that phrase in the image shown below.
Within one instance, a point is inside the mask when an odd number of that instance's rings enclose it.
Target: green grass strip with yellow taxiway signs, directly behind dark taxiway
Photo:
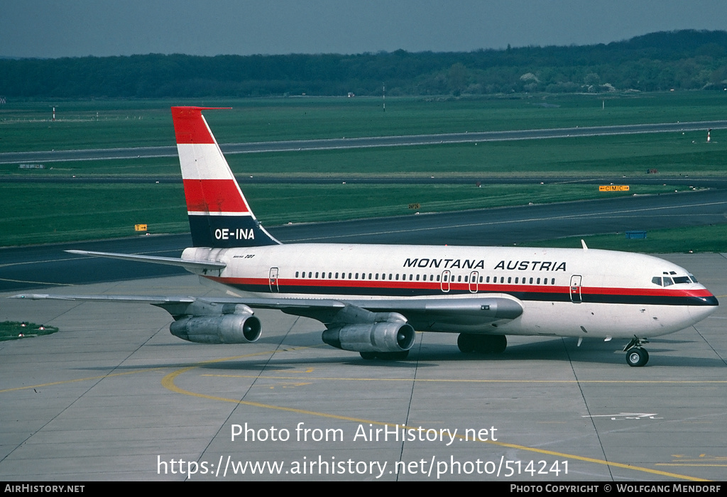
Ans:
[[[274,188],[275,195],[270,195]],[[637,186],[627,193],[595,185],[247,185],[246,198],[264,225],[360,219],[415,212],[483,209],[614,195],[666,193],[685,187]],[[179,184],[7,183],[0,209],[0,246],[114,238],[189,230]],[[8,199],[21,199],[9,201]],[[409,209],[419,203],[419,209]]]

